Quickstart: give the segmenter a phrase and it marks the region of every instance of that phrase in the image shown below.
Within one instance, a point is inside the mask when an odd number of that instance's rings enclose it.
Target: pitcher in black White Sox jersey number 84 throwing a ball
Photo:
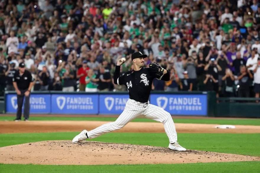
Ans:
[[[169,148],[177,151],[186,151],[177,142],[177,133],[173,119],[170,113],[158,106],[149,103],[152,81],[154,78],[168,81],[170,80],[170,72],[163,69],[156,63],[150,63],[149,68],[144,67],[144,58],[141,52],[135,52],[131,55],[134,69],[120,76],[120,66],[124,64],[126,58],[121,58],[116,65],[114,73],[114,83],[125,85],[129,90],[129,100],[126,102],[126,107],[115,122],[106,123],[91,131],[83,130],[75,136],[72,143],[78,143],[85,139],[93,139],[102,134],[118,130],[124,127],[127,123],[138,116],[144,116],[155,121],[163,123],[165,132],[169,138]]]

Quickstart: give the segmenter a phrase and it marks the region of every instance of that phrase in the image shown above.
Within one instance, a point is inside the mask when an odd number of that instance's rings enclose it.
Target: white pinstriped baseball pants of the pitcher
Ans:
[[[149,102],[144,104],[132,99],[129,99],[126,102],[124,111],[115,122],[103,124],[102,126],[87,132],[87,136],[89,139],[93,139],[102,134],[118,130],[138,116],[144,116],[163,123],[170,143],[177,141],[177,133],[170,113],[163,110],[163,108],[150,104]]]

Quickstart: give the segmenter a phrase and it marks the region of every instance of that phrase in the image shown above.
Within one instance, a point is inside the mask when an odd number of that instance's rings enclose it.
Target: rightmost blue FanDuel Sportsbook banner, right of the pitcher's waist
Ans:
[[[150,103],[171,115],[207,116],[207,94],[151,94]]]

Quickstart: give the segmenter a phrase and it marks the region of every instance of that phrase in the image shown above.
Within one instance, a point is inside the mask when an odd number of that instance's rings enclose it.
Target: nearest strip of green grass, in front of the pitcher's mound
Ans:
[[[221,162],[192,164],[154,164],[154,165],[19,165],[0,164],[0,172],[19,173],[130,173],[130,172],[163,172],[163,173],[258,173],[259,162]]]

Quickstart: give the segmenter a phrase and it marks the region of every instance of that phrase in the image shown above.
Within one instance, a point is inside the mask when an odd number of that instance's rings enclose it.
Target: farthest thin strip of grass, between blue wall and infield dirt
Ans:
[[[0,121],[13,121],[15,117],[0,116]],[[115,121],[110,117],[30,117],[31,121]],[[260,119],[183,119],[174,118],[174,123],[229,124],[260,126]],[[147,118],[136,118],[131,122],[156,122]]]

